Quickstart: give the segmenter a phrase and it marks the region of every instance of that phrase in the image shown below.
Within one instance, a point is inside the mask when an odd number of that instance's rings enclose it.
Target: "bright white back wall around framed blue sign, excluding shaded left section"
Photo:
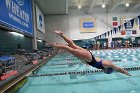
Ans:
[[[108,25],[112,25],[112,17],[118,17],[118,23],[120,23],[120,19],[122,17],[136,17],[139,12],[129,12],[126,13],[124,11],[116,11],[115,13],[106,13],[105,11],[93,11],[90,14],[85,12],[86,10],[70,10],[69,11],[69,26],[70,26],[70,37],[72,39],[85,39],[92,38],[98,35],[103,34],[104,32],[110,31],[112,28]],[[87,10],[88,11],[88,10]],[[85,17],[93,17],[96,18],[97,23],[97,33],[80,33],[79,29],[79,19]],[[118,25],[119,26],[119,25]],[[138,29],[136,29],[138,30]],[[137,31],[137,35],[140,36],[140,31]],[[123,37],[120,33],[113,35],[112,37]]]

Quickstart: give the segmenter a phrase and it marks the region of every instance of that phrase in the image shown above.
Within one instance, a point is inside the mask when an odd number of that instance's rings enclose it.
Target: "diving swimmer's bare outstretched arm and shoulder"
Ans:
[[[119,66],[114,65],[111,61],[103,61],[102,64],[103,64],[103,66],[111,67],[111,68],[113,68],[114,70],[116,70],[120,73],[131,76],[131,74],[129,74],[126,70],[124,70],[123,68],[121,68]]]

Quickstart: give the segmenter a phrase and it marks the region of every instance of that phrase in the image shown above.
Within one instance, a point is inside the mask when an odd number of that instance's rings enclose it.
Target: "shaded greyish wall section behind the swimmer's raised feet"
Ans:
[[[55,30],[63,31],[68,37],[69,31],[69,16],[68,15],[48,15],[45,17],[46,24],[46,41],[64,43],[64,40],[54,34]]]

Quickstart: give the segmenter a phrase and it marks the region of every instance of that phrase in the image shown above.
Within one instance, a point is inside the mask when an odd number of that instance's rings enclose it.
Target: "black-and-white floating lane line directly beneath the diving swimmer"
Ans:
[[[131,68],[123,68],[128,71],[140,70],[140,67],[131,67]],[[103,70],[89,70],[89,71],[78,71],[78,72],[62,72],[62,73],[54,73],[54,74],[39,74],[39,75],[30,75],[28,77],[42,77],[42,76],[59,76],[59,75],[71,75],[71,74],[90,74],[90,73],[100,73]]]

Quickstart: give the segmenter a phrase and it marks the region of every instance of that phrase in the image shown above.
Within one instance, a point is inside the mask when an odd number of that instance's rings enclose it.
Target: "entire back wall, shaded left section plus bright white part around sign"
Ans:
[[[124,11],[118,10],[112,13],[106,13],[105,10],[100,9],[92,11],[92,13],[87,13],[88,10],[69,10],[68,15],[49,15],[45,17],[46,24],[46,40],[48,42],[64,42],[61,38],[56,37],[56,35],[50,33],[54,30],[62,30],[66,35],[68,35],[73,40],[79,39],[89,39],[95,36],[101,35],[111,28],[108,27],[109,24],[112,25],[112,17],[136,17],[139,11],[126,13]],[[79,29],[79,19],[93,17],[96,19],[97,31],[96,33],[80,33]],[[140,31],[137,31],[137,36],[140,36]],[[112,37],[121,37],[118,33]]]

